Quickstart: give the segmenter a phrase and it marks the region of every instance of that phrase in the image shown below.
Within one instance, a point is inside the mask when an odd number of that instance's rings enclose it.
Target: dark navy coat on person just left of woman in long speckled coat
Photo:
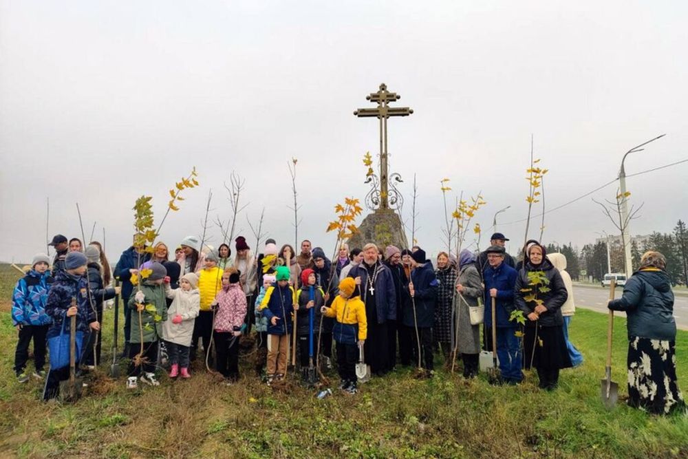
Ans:
[[[418,323],[418,328],[432,328],[435,322],[435,306],[439,286],[432,264],[427,261],[422,266],[412,270],[411,282],[413,282],[415,295],[411,301],[407,301],[404,305],[404,325],[413,327]],[[414,306],[416,307],[416,317],[413,317]]]

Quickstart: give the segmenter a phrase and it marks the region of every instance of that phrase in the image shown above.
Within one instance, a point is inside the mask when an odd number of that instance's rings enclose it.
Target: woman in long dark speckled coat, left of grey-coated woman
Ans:
[[[444,365],[451,365],[451,337],[452,301],[454,298],[454,284],[456,283],[457,271],[451,264],[449,255],[440,252],[437,256],[437,269],[435,277],[440,281],[437,290],[437,307],[435,308],[435,321],[433,324],[433,340],[440,343],[442,354],[444,354]]]

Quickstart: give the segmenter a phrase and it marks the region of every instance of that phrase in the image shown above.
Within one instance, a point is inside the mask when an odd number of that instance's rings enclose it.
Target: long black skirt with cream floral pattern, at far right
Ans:
[[[676,381],[676,341],[630,337],[628,405],[654,414],[685,407]]]

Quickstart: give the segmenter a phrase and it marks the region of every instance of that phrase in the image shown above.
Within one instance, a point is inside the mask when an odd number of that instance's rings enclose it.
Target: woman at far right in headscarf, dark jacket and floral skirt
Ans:
[[[628,405],[654,414],[685,407],[676,381],[674,292],[659,252],[645,252],[641,266],[608,308],[628,318]]]

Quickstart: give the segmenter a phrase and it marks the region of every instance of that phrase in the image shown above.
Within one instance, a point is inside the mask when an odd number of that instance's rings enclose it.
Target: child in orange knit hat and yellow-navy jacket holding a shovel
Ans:
[[[363,346],[367,337],[368,326],[365,319],[365,304],[354,295],[356,281],[346,277],[339,283],[339,295],[332,301],[332,306],[323,306],[321,312],[325,317],[335,317],[334,341],[337,343],[337,366],[341,377],[341,389],[349,394],[356,394],[356,361],[358,348]]]

